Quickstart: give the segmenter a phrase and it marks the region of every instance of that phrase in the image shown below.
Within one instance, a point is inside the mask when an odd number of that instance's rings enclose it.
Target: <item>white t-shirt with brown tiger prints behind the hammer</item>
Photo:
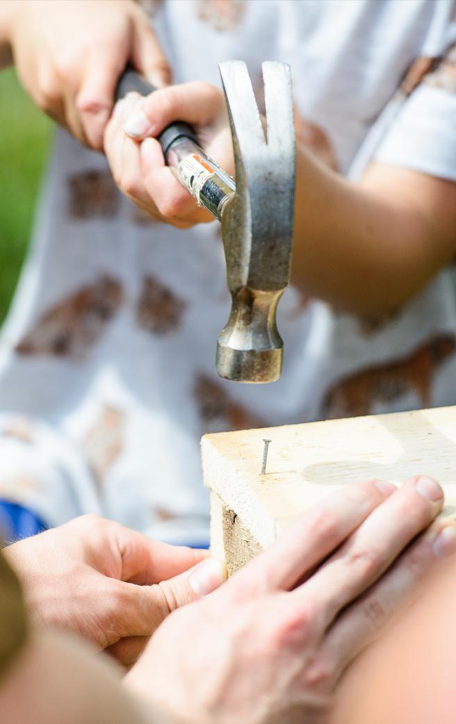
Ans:
[[[219,85],[217,64],[241,59],[260,90],[263,60],[289,62],[298,138],[331,167],[356,179],[376,158],[456,181],[452,0],[144,6],[177,82]],[[152,222],[57,132],[1,337],[0,497],[49,525],[94,512],[199,543],[203,433],[456,403],[452,269],[388,319],[290,287],[282,379],[266,386],[216,376],[228,313],[217,222]]]

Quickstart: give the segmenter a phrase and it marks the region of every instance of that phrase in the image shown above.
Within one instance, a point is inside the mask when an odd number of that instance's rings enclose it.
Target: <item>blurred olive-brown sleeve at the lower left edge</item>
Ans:
[[[27,632],[20,584],[0,550],[0,683],[25,643]]]

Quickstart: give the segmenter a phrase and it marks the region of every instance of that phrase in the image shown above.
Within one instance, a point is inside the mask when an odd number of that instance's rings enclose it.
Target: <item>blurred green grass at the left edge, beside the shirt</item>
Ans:
[[[33,106],[14,69],[0,72],[0,321],[27,251],[52,122]]]

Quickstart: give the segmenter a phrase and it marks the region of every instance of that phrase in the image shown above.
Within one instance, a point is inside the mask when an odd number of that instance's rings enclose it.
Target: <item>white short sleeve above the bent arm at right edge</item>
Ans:
[[[456,181],[456,46],[407,98],[375,159]]]

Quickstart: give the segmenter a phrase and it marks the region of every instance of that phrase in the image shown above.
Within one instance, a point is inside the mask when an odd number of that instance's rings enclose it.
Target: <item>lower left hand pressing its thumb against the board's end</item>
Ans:
[[[205,593],[226,576],[207,551],[151,541],[96,515],[15,543],[4,555],[33,623],[77,633],[127,667],[174,608],[200,597],[205,571]]]

